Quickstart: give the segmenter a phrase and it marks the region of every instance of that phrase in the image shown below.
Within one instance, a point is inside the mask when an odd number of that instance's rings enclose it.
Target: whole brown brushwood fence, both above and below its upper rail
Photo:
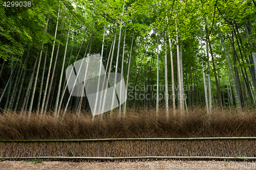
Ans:
[[[90,113],[75,115],[70,110],[61,122],[49,112],[40,120],[35,113],[30,119],[9,112],[0,116],[0,139],[88,139],[88,138],[151,138],[151,137],[234,137],[256,136],[256,110],[226,108],[213,110],[207,116],[203,108],[190,109],[182,116],[170,112],[166,119],[164,109],[156,117],[155,110],[127,111],[119,118],[118,111],[96,116],[92,123]],[[0,157],[30,156],[256,156],[255,140],[124,140],[98,142],[1,142]]]

